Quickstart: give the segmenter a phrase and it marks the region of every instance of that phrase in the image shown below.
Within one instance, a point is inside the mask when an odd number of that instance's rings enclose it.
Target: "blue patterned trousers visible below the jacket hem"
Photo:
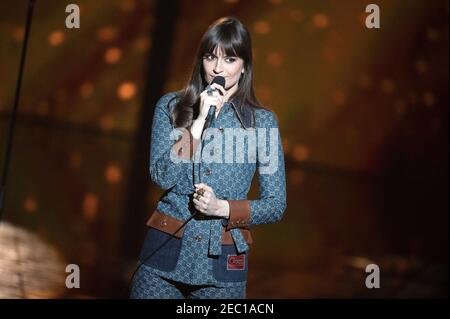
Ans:
[[[136,273],[131,299],[245,299],[245,286],[188,285],[162,278],[151,267],[141,265]]]

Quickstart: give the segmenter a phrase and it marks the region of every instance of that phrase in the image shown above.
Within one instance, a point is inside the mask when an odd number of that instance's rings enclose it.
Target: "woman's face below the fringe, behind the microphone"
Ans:
[[[223,50],[216,47],[214,53],[203,56],[203,71],[208,83],[220,75],[225,78],[225,90],[237,85],[244,70],[244,60],[237,56],[227,56]]]

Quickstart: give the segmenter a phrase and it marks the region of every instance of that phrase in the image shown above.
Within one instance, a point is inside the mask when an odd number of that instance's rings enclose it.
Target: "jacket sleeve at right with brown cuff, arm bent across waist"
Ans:
[[[273,112],[261,117],[260,127],[265,130],[257,127],[259,198],[229,200],[227,229],[279,222],[286,209],[286,173],[278,122]]]

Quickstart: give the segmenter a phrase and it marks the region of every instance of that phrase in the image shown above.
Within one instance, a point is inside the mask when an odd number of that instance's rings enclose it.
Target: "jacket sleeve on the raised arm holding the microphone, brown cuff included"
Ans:
[[[191,160],[199,144],[189,128],[174,128],[168,108],[173,97],[167,94],[158,101],[152,123],[150,177],[163,190],[180,181],[183,165]]]

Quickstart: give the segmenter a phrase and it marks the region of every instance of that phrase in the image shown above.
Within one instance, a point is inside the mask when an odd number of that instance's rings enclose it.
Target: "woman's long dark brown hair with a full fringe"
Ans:
[[[252,44],[247,28],[236,18],[224,17],[213,22],[203,35],[197,50],[194,67],[186,87],[178,94],[177,107],[172,114],[175,127],[188,127],[198,115],[200,93],[206,83],[203,74],[203,58],[220,47],[226,55],[237,56],[244,61],[244,73],[239,79],[238,89],[230,97],[237,98],[236,107],[243,105],[264,108],[256,99],[253,89]]]

